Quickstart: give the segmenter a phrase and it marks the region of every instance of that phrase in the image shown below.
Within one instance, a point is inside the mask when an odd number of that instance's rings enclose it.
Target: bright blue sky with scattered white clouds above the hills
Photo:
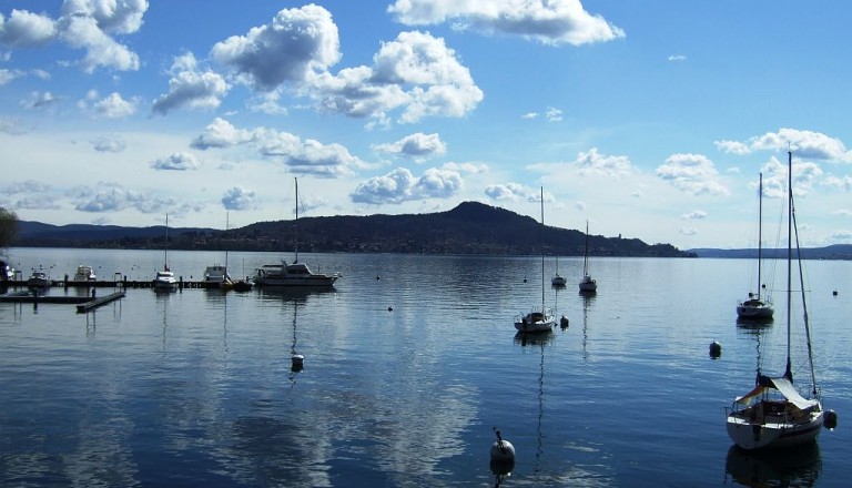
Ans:
[[[679,248],[852,243],[852,2],[0,0],[0,206],[241,227],[465,201]],[[785,232],[785,231],[784,231]],[[785,245],[785,244],[784,244]]]

